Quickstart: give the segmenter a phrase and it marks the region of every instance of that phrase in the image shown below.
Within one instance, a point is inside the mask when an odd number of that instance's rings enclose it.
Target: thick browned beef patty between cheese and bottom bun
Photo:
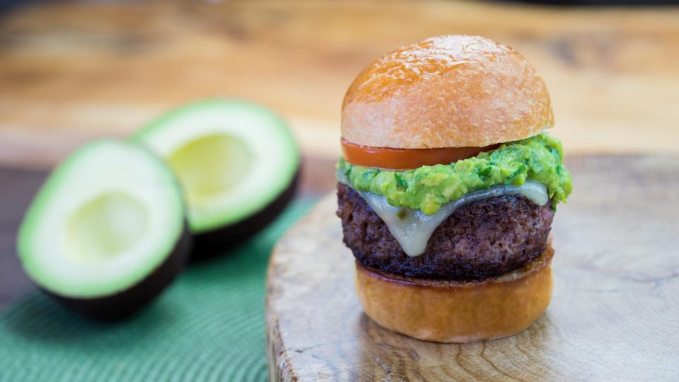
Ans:
[[[344,244],[367,267],[425,279],[481,280],[516,270],[540,256],[554,211],[520,195],[465,204],[444,220],[422,255],[401,249],[384,221],[351,187],[338,183],[337,216]]]

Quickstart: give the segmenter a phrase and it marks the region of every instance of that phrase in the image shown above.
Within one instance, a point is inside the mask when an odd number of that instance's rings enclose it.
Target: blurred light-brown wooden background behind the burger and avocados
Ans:
[[[307,158],[330,163],[353,77],[447,33],[528,57],[570,154],[677,153],[678,21],[677,7],[494,1],[32,2],[0,18],[0,166],[45,168],[86,139],[214,96],[278,110]]]

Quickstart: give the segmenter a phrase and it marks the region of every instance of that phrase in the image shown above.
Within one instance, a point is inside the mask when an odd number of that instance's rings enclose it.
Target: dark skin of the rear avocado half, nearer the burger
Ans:
[[[273,202],[260,209],[259,212],[238,221],[236,224],[195,235],[191,260],[202,260],[215,255],[221,255],[226,250],[243,243],[255,235],[255,233],[261,231],[262,228],[269,225],[283,212],[294,197],[300,174],[301,168],[297,168],[288,187]]]

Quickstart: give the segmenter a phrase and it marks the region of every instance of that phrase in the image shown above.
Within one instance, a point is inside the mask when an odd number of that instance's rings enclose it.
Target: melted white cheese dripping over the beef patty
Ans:
[[[460,199],[443,204],[441,209],[434,214],[427,215],[419,209],[394,207],[382,195],[364,191],[357,192],[385,222],[406,255],[411,257],[422,255],[426,248],[426,243],[429,242],[429,238],[434,233],[436,227],[448,219],[448,216],[451,216],[455,209],[465,204],[502,195],[523,195],[539,206],[545,205],[549,200],[545,185],[533,180],[527,180],[521,186],[496,185],[488,190],[470,192]]]

